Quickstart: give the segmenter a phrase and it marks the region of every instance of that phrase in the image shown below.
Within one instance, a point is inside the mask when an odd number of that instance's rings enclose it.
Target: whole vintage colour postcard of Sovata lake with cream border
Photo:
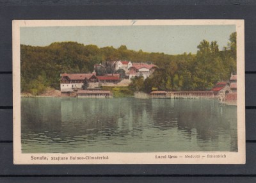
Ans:
[[[13,20],[14,164],[244,164],[244,20]]]

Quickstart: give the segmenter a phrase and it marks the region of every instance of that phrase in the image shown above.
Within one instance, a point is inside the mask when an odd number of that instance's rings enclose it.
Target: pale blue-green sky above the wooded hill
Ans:
[[[20,44],[46,46],[74,41],[98,47],[126,45],[127,49],[166,54],[196,53],[202,40],[216,40],[222,49],[235,25],[223,26],[84,26],[20,28]]]

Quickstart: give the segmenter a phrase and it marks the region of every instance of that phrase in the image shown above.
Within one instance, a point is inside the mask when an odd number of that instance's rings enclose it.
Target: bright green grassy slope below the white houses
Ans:
[[[111,90],[113,97],[115,98],[134,96],[133,92],[129,90],[128,86],[103,86],[102,89]]]

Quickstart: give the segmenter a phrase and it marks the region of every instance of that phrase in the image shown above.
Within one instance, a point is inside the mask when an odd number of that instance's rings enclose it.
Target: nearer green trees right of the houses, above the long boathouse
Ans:
[[[154,88],[168,91],[211,90],[218,81],[228,81],[231,72],[236,73],[236,33],[230,35],[230,43],[223,51],[219,51],[217,42],[210,44],[206,40],[197,48],[196,55],[184,53],[154,62],[158,68],[152,76],[142,85],[141,78],[134,77],[131,90],[147,93]]]

